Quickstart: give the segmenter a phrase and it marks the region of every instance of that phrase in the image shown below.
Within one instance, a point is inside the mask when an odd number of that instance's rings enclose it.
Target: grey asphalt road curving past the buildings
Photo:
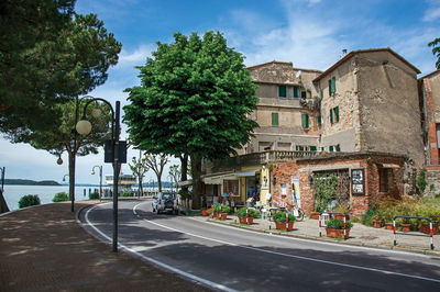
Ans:
[[[111,203],[81,220],[102,240],[112,237]],[[440,260],[429,256],[156,215],[151,201],[119,202],[119,243],[121,250],[215,290],[440,291]]]

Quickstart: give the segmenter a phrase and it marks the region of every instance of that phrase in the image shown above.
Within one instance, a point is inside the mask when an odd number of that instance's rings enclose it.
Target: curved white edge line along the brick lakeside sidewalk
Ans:
[[[106,204],[107,204],[107,203],[106,203]],[[110,204],[110,203],[109,203],[109,204]],[[103,204],[102,204],[102,205],[103,205]],[[85,216],[86,222],[87,222],[87,224],[88,224],[91,228],[94,228],[99,235],[101,235],[101,236],[102,236],[103,238],[106,238],[109,243],[111,243],[111,242],[112,242],[112,238],[110,238],[110,237],[107,236],[103,232],[101,232],[100,229],[98,229],[98,227],[96,227],[96,226],[89,221],[89,213],[90,213],[91,210],[94,210],[94,209],[96,209],[96,207],[98,207],[98,205],[96,205],[96,206],[90,207],[89,210],[87,210],[86,216]],[[146,260],[146,261],[150,261],[150,262],[152,262],[152,263],[154,263],[154,265],[156,265],[156,266],[158,266],[158,267],[162,267],[162,268],[164,268],[164,269],[167,269],[167,270],[169,270],[169,271],[172,271],[172,272],[178,273],[178,274],[180,274],[180,276],[183,276],[183,277],[185,277],[185,278],[191,279],[193,281],[204,283],[204,284],[207,285],[207,287],[210,287],[210,288],[213,288],[213,289],[217,289],[217,290],[229,291],[229,292],[235,292],[235,291],[237,291],[237,290],[231,289],[231,288],[229,288],[229,287],[226,287],[226,285],[222,285],[222,284],[219,284],[219,283],[209,281],[209,280],[207,280],[207,279],[204,279],[204,278],[197,277],[197,276],[195,276],[195,274],[185,272],[185,271],[183,271],[183,270],[180,270],[180,269],[174,268],[174,267],[172,267],[172,266],[169,266],[169,265],[166,265],[166,263],[164,263],[164,262],[162,262],[162,261],[155,260],[155,259],[153,259],[153,258],[151,258],[151,257],[144,256],[144,255],[138,252],[136,250],[134,250],[134,249],[132,249],[132,248],[130,248],[130,247],[124,246],[123,244],[118,243],[118,246],[121,247],[122,249],[127,250],[128,252],[131,252],[131,254],[133,254],[133,255],[135,255],[135,256],[138,256],[138,257],[141,257],[142,259],[144,259],[144,260]],[[139,247],[136,247],[136,249],[138,249],[138,248],[139,248]]]

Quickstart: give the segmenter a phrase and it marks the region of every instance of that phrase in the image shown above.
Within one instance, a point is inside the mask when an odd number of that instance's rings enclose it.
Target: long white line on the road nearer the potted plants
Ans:
[[[133,213],[135,215],[138,215],[136,207],[139,205],[141,205],[141,204],[143,204],[143,203],[139,203],[135,206],[133,206]],[[296,258],[296,259],[301,259],[301,260],[315,261],[315,262],[319,262],[319,263],[328,263],[328,265],[333,265],[333,266],[339,266],[339,267],[344,267],[344,268],[351,268],[351,269],[358,269],[358,270],[366,270],[366,271],[373,271],[373,272],[381,272],[381,273],[385,273],[385,274],[394,274],[394,276],[400,276],[400,277],[406,277],[406,278],[413,278],[413,279],[419,279],[419,280],[440,283],[440,279],[432,279],[432,278],[427,278],[427,277],[421,277],[421,276],[414,276],[414,274],[407,274],[407,273],[402,273],[402,272],[394,272],[394,271],[381,270],[381,269],[375,269],[375,268],[354,266],[354,265],[349,265],[349,263],[342,263],[342,262],[336,262],[336,261],[329,261],[329,260],[322,260],[322,259],[315,259],[315,258],[308,258],[308,257],[302,257],[302,256],[295,256],[295,255],[283,254],[283,252],[273,251],[273,250],[266,250],[266,249],[256,248],[256,247],[238,245],[238,244],[230,243],[230,242],[219,240],[219,239],[209,238],[209,237],[206,237],[206,236],[200,236],[200,235],[183,232],[183,231],[179,231],[179,229],[176,229],[176,228],[173,228],[173,227],[168,227],[168,226],[165,226],[163,224],[160,224],[160,223],[146,220],[146,218],[143,218],[143,220],[148,222],[148,223],[151,223],[151,224],[161,226],[161,227],[166,228],[166,229],[170,229],[170,231],[174,231],[174,232],[179,232],[179,233],[183,233],[183,234],[187,234],[187,235],[190,235],[190,236],[194,236],[194,237],[198,237],[198,238],[202,238],[202,239],[207,239],[207,240],[211,240],[211,242],[216,242],[216,243],[221,243],[221,244],[224,244],[224,245],[238,246],[238,247],[242,247],[242,248],[251,249],[251,250],[255,250],[255,251],[261,251],[261,252],[266,252],[266,254],[272,254],[272,255],[277,255],[277,256],[283,256],[283,257],[289,257],[289,258]]]

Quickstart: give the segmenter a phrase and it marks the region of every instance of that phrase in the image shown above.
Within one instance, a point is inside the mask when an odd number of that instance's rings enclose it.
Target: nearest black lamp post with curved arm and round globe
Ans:
[[[119,120],[120,120],[120,108],[121,103],[119,101],[116,102],[116,111],[113,106],[111,106],[110,102],[105,99],[95,98],[87,101],[86,105],[84,106],[82,119],[76,124],[76,131],[81,135],[87,135],[91,132],[91,124],[86,119],[86,110],[87,106],[92,101],[102,101],[103,103],[108,104],[111,110],[111,145],[112,145],[112,153],[113,153],[113,240],[112,240],[112,249],[113,252],[118,252],[118,182],[119,182],[119,169],[120,169],[120,161],[119,161]]]

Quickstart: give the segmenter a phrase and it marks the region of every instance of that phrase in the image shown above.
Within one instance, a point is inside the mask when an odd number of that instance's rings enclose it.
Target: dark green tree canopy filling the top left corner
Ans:
[[[0,132],[12,142],[61,121],[56,103],[107,80],[121,44],[97,15],[69,0],[6,0],[0,5]]]

